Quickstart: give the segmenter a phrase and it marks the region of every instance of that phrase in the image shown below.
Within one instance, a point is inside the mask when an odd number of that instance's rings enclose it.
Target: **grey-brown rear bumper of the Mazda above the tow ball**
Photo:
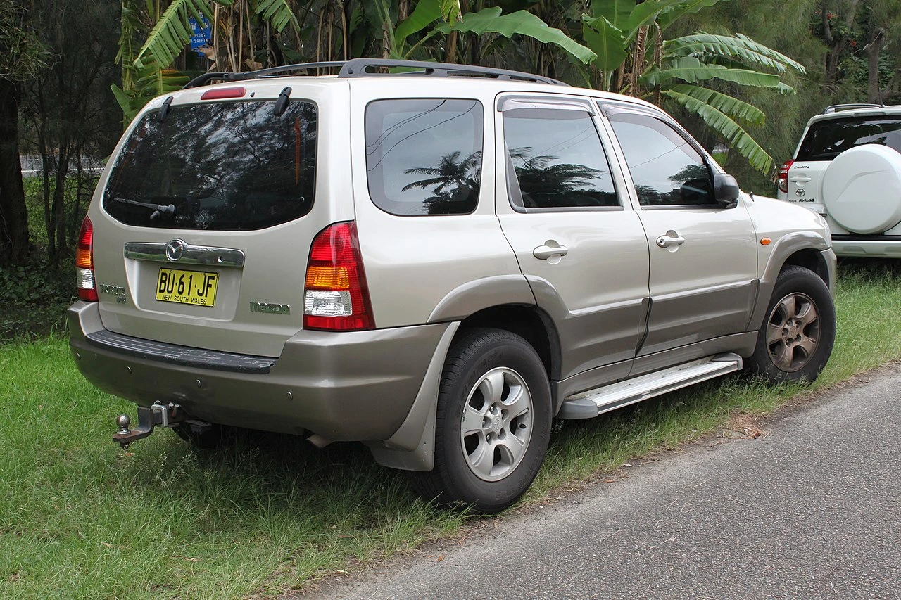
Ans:
[[[110,394],[144,406],[175,402],[210,423],[334,441],[384,441],[397,431],[448,326],[302,331],[266,359],[130,338],[105,330],[96,303],[68,309],[77,368]]]

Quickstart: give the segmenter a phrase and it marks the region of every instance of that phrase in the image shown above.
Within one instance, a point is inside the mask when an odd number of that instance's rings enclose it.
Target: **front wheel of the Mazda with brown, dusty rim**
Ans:
[[[823,279],[804,267],[783,268],[746,370],[768,380],[811,382],[829,360],[835,306]]]

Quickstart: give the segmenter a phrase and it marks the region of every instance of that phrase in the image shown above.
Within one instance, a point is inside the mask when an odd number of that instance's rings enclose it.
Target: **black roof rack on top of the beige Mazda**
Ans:
[[[511,71],[505,68],[473,67],[471,65],[455,65],[444,62],[427,62],[425,60],[394,60],[394,59],[350,59],[347,61],[307,62],[298,65],[286,65],[285,67],[261,68],[256,71],[244,73],[213,72],[204,73],[195,77],[182,87],[205,86],[211,81],[244,81],[247,79],[261,79],[268,77],[287,77],[296,71],[310,71],[323,68],[341,68],[338,77],[392,77],[397,75],[414,75],[417,77],[486,77],[491,79],[506,79],[510,81],[532,81],[546,83],[553,86],[568,86],[557,79]],[[406,71],[404,73],[378,73],[372,72],[372,68],[415,68],[419,70]]]

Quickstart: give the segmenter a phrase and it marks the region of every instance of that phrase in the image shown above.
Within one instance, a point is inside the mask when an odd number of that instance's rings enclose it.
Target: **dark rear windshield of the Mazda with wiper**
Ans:
[[[141,227],[245,231],[310,212],[316,108],[274,102],[173,106],[145,114],[117,157],[103,206]]]

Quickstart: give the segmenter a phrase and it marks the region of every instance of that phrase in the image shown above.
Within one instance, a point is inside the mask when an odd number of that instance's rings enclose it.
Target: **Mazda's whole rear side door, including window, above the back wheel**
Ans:
[[[648,299],[648,245],[584,98],[501,96],[496,212],[538,305],[560,334],[560,378],[619,363],[625,377]]]

